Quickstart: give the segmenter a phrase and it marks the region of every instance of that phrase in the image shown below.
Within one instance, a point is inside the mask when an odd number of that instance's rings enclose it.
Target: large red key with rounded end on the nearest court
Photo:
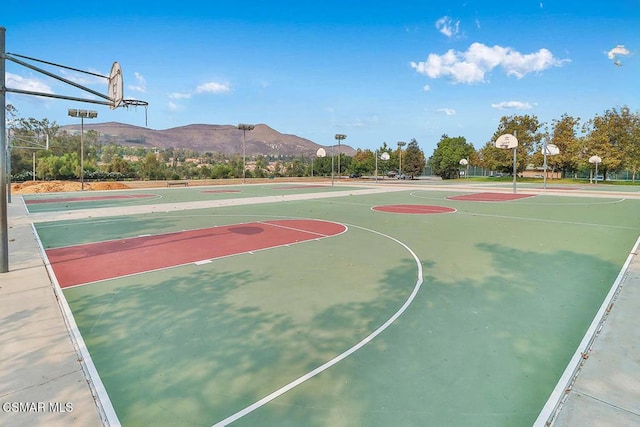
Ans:
[[[61,288],[335,236],[346,227],[318,220],[232,224],[46,251]]]

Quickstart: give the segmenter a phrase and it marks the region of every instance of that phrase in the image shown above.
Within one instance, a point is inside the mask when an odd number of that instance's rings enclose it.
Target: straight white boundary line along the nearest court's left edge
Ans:
[[[58,279],[56,278],[55,273],[51,267],[51,263],[49,262],[49,258],[47,257],[47,253],[42,247],[42,242],[40,241],[40,236],[38,235],[38,231],[35,228],[35,225],[31,224],[31,229],[33,234],[36,237],[36,241],[38,242],[38,247],[40,249],[40,255],[44,260],[45,267],[47,269],[47,274],[49,275],[49,279],[53,285],[53,291],[56,295],[56,300],[58,300],[58,305],[62,311],[62,318],[64,319],[65,325],[67,326],[67,331],[69,333],[69,338],[71,338],[71,343],[75,348],[76,354],[79,356],[78,362],[82,368],[83,375],[89,386],[89,390],[91,390],[91,394],[93,395],[93,401],[95,402],[96,409],[100,418],[107,426],[119,427],[121,426],[120,420],[118,419],[118,415],[116,414],[113,405],[111,404],[111,399],[109,398],[109,394],[107,393],[104,384],[102,383],[102,379],[100,378],[100,374],[93,364],[93,359],[91,359],[91,354],[87,349],[87,346],[80,334],[80,330],[78,329],[78,325],[76,324],[75,318],[71,312],[71,308],[67,303],[67,299],[62,292],[62,288],[58,284]]]

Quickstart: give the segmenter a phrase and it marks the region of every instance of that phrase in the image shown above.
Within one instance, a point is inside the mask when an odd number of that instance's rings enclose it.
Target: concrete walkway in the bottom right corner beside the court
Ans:
[[[602,322],[585,336],[586,348],[579,349],[576,366],[567,368],[571,375],[558,383],[536,426],[640,426],[640,259],[634,249],[613,298],[603,305]]]

